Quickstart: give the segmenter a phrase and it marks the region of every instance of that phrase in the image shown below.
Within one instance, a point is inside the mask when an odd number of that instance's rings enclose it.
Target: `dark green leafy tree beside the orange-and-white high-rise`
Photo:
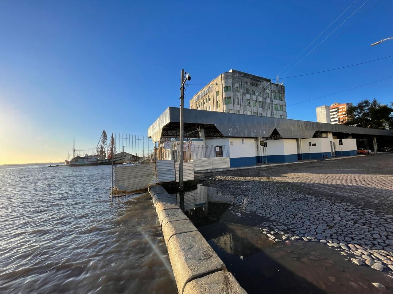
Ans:
[[[393,129],[393,103],[391,107],[381,105],[376,99],[365,99],[347,109],[347,119],[343,125],[353,125],[373,129]]]

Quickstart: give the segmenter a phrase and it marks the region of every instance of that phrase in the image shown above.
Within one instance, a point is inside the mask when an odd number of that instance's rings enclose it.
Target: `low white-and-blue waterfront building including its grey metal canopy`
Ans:
[[[149,127],[149,138],[158,145],[176,140],[179,113],[179,108],[168,107]],[[356,155],[356,138],[372,138],[375,151],[379,139],[393,138],[393,131],[387,130],[195,109],[184,109],[184,134],[190,146],[185,158],[194,165],[203,162],[200,154],[193,157],[195,146],[215,147],[217,152],[206,156],[213,158],[213,168],[214,158],[221,164],[222,157],[228,158],[230,167],[240,167]]]

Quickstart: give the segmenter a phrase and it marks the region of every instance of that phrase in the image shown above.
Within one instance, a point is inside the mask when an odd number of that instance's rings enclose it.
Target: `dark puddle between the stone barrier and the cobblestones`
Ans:
[[[266,219],[239,212],[231,203],[236,196],[202,185],[172,196],[248,294],[393,291],[393,278],[345,260],[340,250],[301,240],[272,244],[258,226]]]

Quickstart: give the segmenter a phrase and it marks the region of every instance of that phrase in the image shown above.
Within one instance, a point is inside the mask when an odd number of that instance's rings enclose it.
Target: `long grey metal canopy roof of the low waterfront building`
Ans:
[[[168,107],[149,127],[148,136],[155,141],[179,136],[180,108]],[[393,131],[351,127],[331,123],[307,122],[247,114],[223,113],[184,109],[184,133],[187,138],[198,138],[198,128],[210,137],[263,137],[277,130],[282,138],[312,138],[315,132],[393,136]]]

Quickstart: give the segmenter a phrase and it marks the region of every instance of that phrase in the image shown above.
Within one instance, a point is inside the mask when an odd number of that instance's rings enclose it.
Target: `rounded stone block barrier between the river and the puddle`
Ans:
[[[247,294],[169,194],[160,185],[149,192],[179,293]]]

